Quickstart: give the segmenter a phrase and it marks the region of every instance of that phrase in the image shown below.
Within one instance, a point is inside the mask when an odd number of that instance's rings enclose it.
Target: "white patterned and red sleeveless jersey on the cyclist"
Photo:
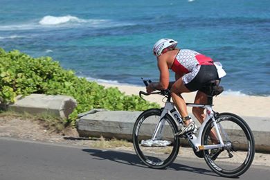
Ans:
[[[198,65],[213,65],[213,60],[196,51],[181,49],[176,55],[171,69],[179,74],[190,73],[192,71],[197,71]]]

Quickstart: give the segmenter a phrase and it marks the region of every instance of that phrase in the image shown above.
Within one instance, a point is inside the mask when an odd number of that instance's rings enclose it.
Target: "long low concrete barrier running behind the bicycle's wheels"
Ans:
[[[136,118],[141,111],[104,111],[93,109],[91,113],[81,116],[77,120],[76,126],[80,136],[118,138],[132,141],[132,130]],[[257,152],[270,152],[270,118],[242,117],[248,123],[255,139],[255,150]],[[193,118],[195,119],[195,118]],[[197,122],[197,125],[199,123]],[[145,132],[147,134],[147,132]],[[233,134],[237,134],[234,129]],[[181,144],[187,145],[188,142],[181,138]]]

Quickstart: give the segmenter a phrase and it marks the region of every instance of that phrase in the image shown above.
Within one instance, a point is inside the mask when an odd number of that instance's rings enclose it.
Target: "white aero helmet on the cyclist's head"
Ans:
[[[159,57],[165,48],[175,48],[175,46],[177,46],[177,41],[174,41],[174,39],[159,39],[159,41],[154,44],[153,53],[156,57]]]

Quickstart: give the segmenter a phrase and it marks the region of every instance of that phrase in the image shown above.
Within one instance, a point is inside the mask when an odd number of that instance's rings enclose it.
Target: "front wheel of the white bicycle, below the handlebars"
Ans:
[[[133,129],[136,154],[145,165],[156,169],[165,168],[174,161],[180,143],[179,138],[174,135],[177,132],[174,120],[168,115],[160,118],[161,109],[143,111]]]

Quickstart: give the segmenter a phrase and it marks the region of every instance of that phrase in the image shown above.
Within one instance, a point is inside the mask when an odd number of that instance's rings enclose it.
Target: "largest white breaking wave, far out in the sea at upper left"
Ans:
[[[85,22],[87,22],[87,20],[79,19],[78,17],[74,17],[71,15],[62,16],[62,17],[45,16],[39,21],[39,24],[41,24],[41,25],[57,25],[57,24],[66,24],[68,22],[85,23]]]

